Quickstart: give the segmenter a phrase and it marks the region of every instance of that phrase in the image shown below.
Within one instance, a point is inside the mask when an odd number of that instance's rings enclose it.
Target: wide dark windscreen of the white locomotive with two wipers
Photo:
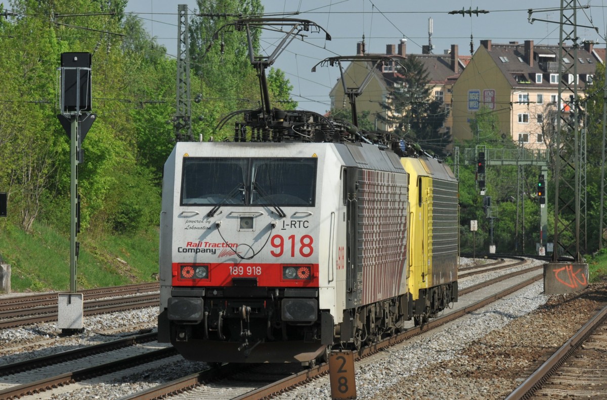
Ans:
[[[316,158],[184,158],[181,205],[313,206]]]

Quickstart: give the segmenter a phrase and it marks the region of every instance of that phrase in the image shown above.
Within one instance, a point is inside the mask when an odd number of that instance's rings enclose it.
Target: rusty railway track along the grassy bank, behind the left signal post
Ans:
[[[96,315],[158,305],[158,284],[83,290],[84,315]],[[0,299],[0,329],[57,319],[58,293]]]

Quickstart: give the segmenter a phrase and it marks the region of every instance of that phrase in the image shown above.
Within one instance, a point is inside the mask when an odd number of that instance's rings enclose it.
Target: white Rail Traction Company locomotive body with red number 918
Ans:
[[[164,169],[161,341],[310,361],[409,315],[407,174],[371,144],[178,143]]]

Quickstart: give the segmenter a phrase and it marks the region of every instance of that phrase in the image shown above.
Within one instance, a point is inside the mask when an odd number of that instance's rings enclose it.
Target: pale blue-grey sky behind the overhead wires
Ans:
[[[589,8],[577,11],[577,36],[605,47],[605,10],[607,0],[580,0]],[[126,11],[136,13],[145,22],[151,36],[177,55],[177,4],[187,4],[189,15],[197,11],[194,0],[129,0]],[[277,58],[273,67],[285,72],[293,86],[292,98],[299,109],[325,113],[330,108],[329,92],[339,78],[337,67],[311,68],[328,57],[356,54],[356,43],[365,36],[369,53],[385,53],[387,44],[407,39],[407,54],[421,54],[422,45],[433,45],[433,53],[442,54],[452,44],[458,45],[459,55],[470,55],[483,39],[493,43],[524,42],[557,44],[559,38],[559,0],[262,0],[266,13],[285,14],[285,18],[308,19],[320,25],[332,36],[325,40],[322,33],[308,33],[304,41],[296,39]],[[529,7],[534,7],[529,22]],[[487,11],[477,15],[450,15],[449,12]],[[297,13],[297,15],[294,15]],[[432,36],[429,37],[429,19]],[[539,21],[545,20],[545,21]],[[583,25],[583,26],[579,26]],[[598,32],[594,27],[598,28]],[[262,36],[262,48],[270,54],[279,41],[276,33]]]

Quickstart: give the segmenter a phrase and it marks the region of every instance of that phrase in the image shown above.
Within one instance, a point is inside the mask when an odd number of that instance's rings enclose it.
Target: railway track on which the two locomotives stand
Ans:
[[[524,277],[524,279],[517,278],[519,281],[517,284],[507,285],[506,288],[502,288],[501,290],[492,289],[492,287],[498,285],[498,282],[513,280],[514,277],[516,277],[517,275],[523,274],[526,274],[526,276]],[[385,348],[392,347],[393,345],[399,344],[401,342],[406,341],[407,339],[413,338],[413,336],[429,332],[430,330],[438,328],[439,326],[446,324],[447,322],[453,321],[456,318],[460,318],[464,315],[472,313],[475,310],[478,310],[479,308],[482,308],[487,304],[496,301],[497,299],[509,295],[510,293],[514,293],[520,288],[523,288],[526,285],[538,281],[542,277],[543,273],[541,271],[541,266],[537,266],[528,268],[523,272],[514,272],[508,274],[507,276],[500,276],[498,278],[491,279],[490,281],[483,282],[483,284],[478,284],[473,287],[466,288],[465,290],[460,291],[459,295],[463,296],[466,293],[472,293],[475,291],[480,292],[483,289],[485,289],[486,295],[481,296],[481,299],[476,299],[478,298],[478,295],[470,296],[474,297],[474,299],[470,299],[469,301],[464,301],[464,299],[460,299],[460,302],[464,303],[463,307],[459,307],[458,309],[453,310],[447,315],[433,319],[428,324],[423,325],[422,327],[407,328],[399,335],[384,339],[375,344],[371,344],[367,347],[361,348],[361,350],[356,355],[356,359],[365,358],[367,356],[378,353],[381,350],[384,350]],[[328,364],[322,363],[309,369],[300,370],[299,372],[293,373],[292,375],[281,376],[280,379],[276,379],[276,381],[264,386],[259,383],[259,371],[258,369],[256,369],[256,367],[244,365],[243,368],[245,369],[241,370],[239,374],[234,375],[228,372],[222,372],[222,368],[228,368],[228,366],[229,364],[225,364],[216,368],[217,371],[215,372],[215,376],[221,377],[217,381],[214,381],[212,378],[209,378],[209,371],[203,371],[201,373],[184,376],[180,379],[175,379],[174,381],[167,382],[166,384],[159,385],[157,387],[152,387],[148,390],[135,393],[131,396],[126,396],[122,400],[155,399],[162,398],[163,396],[175,395],[181,392],[187,392],[188,398],[238,400],[259,399],[264,398],[266,396],[276,395],[280,392],[285,392],[287,390],[290,390],[290,388],[296,387],[297,385],[303,384],[304,382],[310,381],[311,379],[318,378],[328,373]],[[255,382],[257,382],[257,387],[251,389],[251,386],[253,386],[253,383]],[[212,388],[210,390],[208,386],[209,384],[212,385]],[[226,387],[229,388],[229,390],[218,390],[218,387]]]

